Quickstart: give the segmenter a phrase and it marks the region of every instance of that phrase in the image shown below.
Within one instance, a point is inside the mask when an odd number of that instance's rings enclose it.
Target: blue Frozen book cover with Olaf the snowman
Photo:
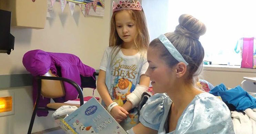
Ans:
[[[128,134],[94,97],[62,122],[73,134]]]

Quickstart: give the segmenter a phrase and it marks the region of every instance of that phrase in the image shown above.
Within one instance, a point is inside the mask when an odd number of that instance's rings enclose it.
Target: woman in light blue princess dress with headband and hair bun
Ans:
[[[198,39],[206,27],[187,14],[179,23],[174,32],[149,45],[146,75],[157,94],[142,107],[140,123],[128,133],[234,134],[228,107],[193,83],[202,69],[204,50]]]

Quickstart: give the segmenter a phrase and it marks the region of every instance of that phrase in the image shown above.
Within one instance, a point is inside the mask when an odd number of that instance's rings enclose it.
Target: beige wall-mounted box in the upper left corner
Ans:
[[[34,0],[33,0],[34,1]],[[11,11],[11,26],[44,28],[47,0],[0,0],[0,9]]]

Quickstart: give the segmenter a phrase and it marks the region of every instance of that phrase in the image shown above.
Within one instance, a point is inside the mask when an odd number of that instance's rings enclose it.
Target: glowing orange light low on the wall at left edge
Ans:
[[[12,110],[12,97],[0,97],[0,113]]]

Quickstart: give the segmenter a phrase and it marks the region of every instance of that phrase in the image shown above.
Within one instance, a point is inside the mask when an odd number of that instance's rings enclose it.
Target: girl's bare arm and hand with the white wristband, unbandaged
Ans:
[[[113,100],[111,99],[109,92],[107,90],[107,86],[105,84],[106,72],[103,70],[99,71],[99,77],[97,80],[97,90],[100,94],[100,97],[108,107]],[[111,114],[114,116],[117,122],[124,120],[129,114],[125,109],[120,106],[115,106],[111,111]]]

